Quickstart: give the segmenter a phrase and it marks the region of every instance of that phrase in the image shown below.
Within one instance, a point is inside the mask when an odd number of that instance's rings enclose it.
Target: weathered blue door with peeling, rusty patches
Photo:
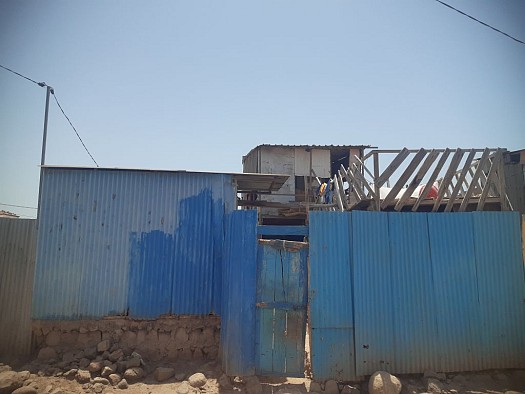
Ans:
[[[255,339],[258,374],[304,376],[307,257],[306,243],[259,241]]]

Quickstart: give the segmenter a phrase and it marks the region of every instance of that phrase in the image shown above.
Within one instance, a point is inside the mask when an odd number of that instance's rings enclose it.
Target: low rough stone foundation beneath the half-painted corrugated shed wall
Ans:
[[[136,351],[144,359],[215,360],[220,341],[217,316],[170,316],[157,320],[105,318],[101,320],[33,320],[33,349],[56,352],[96,348],[109,341],[108,351],[122,349],[125,355]],[[108,343],[108,342],[106,342]]]

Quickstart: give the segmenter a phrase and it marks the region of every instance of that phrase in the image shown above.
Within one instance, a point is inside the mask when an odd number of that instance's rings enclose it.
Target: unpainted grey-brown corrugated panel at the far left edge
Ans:
[[[36,220],[0,218],[0,358],[31,349]]]

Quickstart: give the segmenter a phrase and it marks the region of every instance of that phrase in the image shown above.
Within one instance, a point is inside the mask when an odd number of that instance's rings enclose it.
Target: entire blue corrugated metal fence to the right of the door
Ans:
[[[318,380],[525,366],[516,212],[310,216]]]

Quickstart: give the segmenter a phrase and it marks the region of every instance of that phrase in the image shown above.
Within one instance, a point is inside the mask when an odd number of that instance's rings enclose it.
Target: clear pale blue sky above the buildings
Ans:
[[[525,1],[447,2],[525,41]],[[241,172],[262,143],[525,148],[525,45],[434,0],[0,0],[0,64],[55,88],[101,167]],[[37,205],[44,103],[0,69],[0,203]],[[93,165],[54,101],[48,132],[46,164]]]

